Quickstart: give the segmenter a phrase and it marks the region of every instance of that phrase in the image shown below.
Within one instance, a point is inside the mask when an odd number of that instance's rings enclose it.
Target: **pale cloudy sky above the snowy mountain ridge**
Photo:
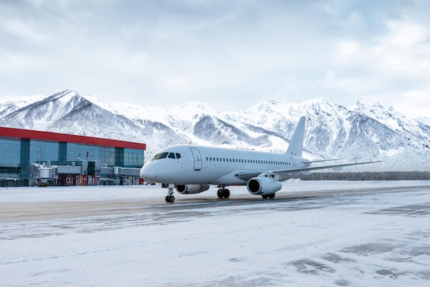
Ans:
[[[429,116],[430,1],[2,0],[0,96],[218,111],[370,96]]]

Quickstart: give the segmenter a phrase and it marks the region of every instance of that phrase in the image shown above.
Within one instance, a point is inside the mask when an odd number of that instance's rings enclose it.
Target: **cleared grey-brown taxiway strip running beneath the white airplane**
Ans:
[[[56,188],[61,192],[67,187],[49,187]],[[82,187],[83,189],[84,187]],[[87,187],[91,190],[92,187]],[[115,187],[106,187],[115,188]],[[121,189],[121,187],[116,187]],[[288,188],[288,187],[286,187]],[[213,207],[231,207],[238,205],[264,205],[271,208],[274,203],[284,203],[291,200],[301,200],[305,202],[310,199],[330,198],[333,196],[359,196],[365,194],[388,194],[395,192],[413,192],[418,189],[427,188],[430,185],[405,185],[391,187],[354,187],[341,190],[317,190],[317,191],[300,191],[300,192],[278,192],[273,199],[263,200],[261,196],[254,196],[243,193],[243,187],[238,194],[231,194],[230,198],[218,198],[199,194],[199,195],[177,195],[175,203],[165,203],[163,196],[165,189],[161,187],[142,187],[142,189],[158,191],[154,192],[152,198],[133,198],[122,199],[112,198],[91,199],[91,200],[73,200],[73,201],[37,201],[21,203],[0,203],[0,222],[19,222],[32,220],[56,220],[60,218],[78,218],[88,216],[111,216],[124,214],[142,214],[152,212],[170,212],[170,211],[187,211],[191,209],[207,209]],[[34,191],[38,192],[34,187]],[[11,189],[11,192],[13,190]],[[209,193],[209,192],[207,192]]]

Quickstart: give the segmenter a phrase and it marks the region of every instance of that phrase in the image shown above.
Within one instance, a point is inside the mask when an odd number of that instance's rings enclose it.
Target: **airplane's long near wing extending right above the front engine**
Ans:
[[[234,175],[238,176],[238,178],[244,181],[247,181],[249,179],[252,179],[253,177],[259,176],[260,174],[277,174],[282,178],[283,176],[297,173],[297,172],[309,174],[311,170],[325,170],[327,168],[332,168],[334,170],[341,170],[341,168],[343,168],[344,166],[361,165],[361,164],[367,164],[367,163],[379,163],[379,162],[380,161],[366,161],[362,163],[343,163],[343,164],[337,164],[337,165],[313,166],[308,168],[291,168],[289,170],[264,170],[264,171],[258,171],[258,172],[237,172]]]

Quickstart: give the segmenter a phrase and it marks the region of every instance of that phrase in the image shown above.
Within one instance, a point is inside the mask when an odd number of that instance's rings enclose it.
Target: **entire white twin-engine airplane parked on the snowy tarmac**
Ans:
[[[198,194],[217,185],[218,197],[228,198],[228,185],[247,185],[250,194],[262,198],[274,198],[282,188],[282,181],[291,179],[298,173],[310,174],[310,170],[332,168],[341,170],[343,166],[376,163],[346,163],[310,167],[311,163],[302,157],[305,117],[291,138],[285,154],[234,150],[208,146],[170,146],[163,148],[140,170],[140,177],[147,181],[163,183],[168,187],[166,202],[173,203],[173,190],[179,194]],[[330,160],[322,160],[330,161]]]

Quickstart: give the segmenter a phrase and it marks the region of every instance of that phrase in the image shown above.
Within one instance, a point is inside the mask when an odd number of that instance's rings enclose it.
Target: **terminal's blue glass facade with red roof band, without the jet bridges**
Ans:
[[[0,131],[0,181],[3,183],[28,181],[34,173],[30,167],[34,163],[58,166],[90,163],[93,174],[96,170],[100,172],[100,167],[141,168],[144,165],[143,143],[2,127]]]

